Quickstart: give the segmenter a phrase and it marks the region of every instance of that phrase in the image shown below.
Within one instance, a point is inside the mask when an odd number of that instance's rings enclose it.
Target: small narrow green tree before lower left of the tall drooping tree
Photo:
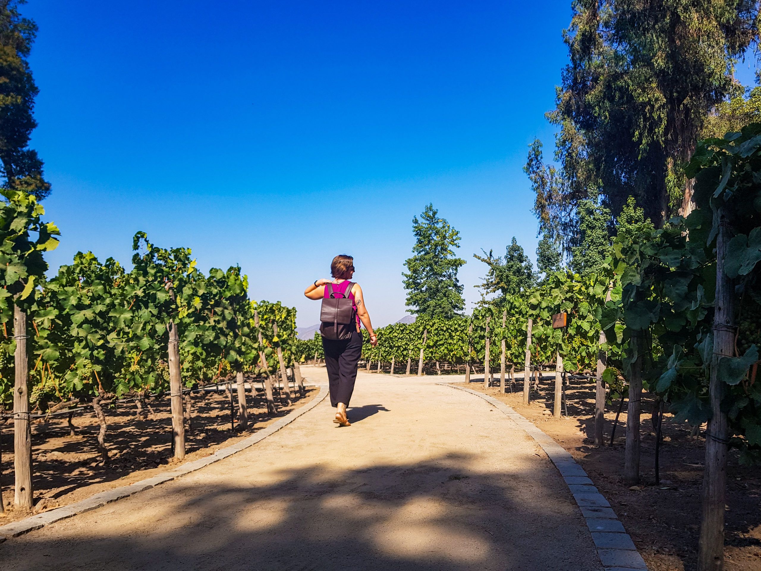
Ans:
[[[584,199],[576,209],[578,231],[572,240],[571,267],[580,276],[597,273],[610,256],[610,210],[597,203],[597,196]]]

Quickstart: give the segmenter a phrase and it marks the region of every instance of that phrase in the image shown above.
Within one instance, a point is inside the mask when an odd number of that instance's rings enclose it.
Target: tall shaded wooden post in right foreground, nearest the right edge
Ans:
[[[727,493],[727,413],[721,409],[724,379],[719,376],[719,360],[734,357],[734,319],[732,295],[734,287],[724,273],[724,255],[730,239],[724,207],[718,212],[716,237],[716,297],[714,313],[714,347],[711,359],[711,380],[708,403],[712,416],[705,429],[705,471],[702,486],[702,519],[698,552],[699,571],[724,569],[724,506]]]

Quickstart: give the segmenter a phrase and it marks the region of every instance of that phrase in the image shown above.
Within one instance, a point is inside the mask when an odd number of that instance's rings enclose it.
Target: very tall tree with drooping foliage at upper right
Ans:
[[[660,227],[681,205],[669,203],[669,174],[685,187],[673,165],[692,155],[710,110],[737,93],[733,58],[756,37],[757,4],[579,0],[572,9],[571,61],[548,113],[562,185],[535,188],[540,220],[568,228],[599,189],[612,212],[634,196]]]

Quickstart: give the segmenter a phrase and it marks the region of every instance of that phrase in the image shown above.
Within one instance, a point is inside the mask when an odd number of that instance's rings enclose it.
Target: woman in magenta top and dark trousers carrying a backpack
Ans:
[[[377,344],[377,337],[365,308],[362,289],[358,283],[349,281],[354,275],[354,258],[345,255],[334,257],[330,264],[330,274],[333,279],[315,280],[314,284],[304,290],[304,295],[310,299],[323,300],[320,334],[330,382],[330,404],[337,409],[333,422],[339,426],[352,426],[346,417],[346,407],[352,399],[357,363],[362,354],[360,322],[370,333],[370,343],[373,346]],[[351,310],[348,301],[341,300],[351,300]],[[329,321],[326,321],[329,314]],[[345,316],[350,317],[347,319]]]

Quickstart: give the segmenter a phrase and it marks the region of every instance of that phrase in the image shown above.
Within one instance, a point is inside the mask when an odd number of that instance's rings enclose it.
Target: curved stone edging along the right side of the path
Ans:
[[[587,520],[587,528],[592,534],[592,541],[597,547],[600,562],[605,571],[626,571],[627,569],[647,569],[645,560],[638,553],[637,548],[619,522],[616,512],[610,507],[608,500],[597,491],[592,480],[589,479],[584,469],[576,464],[572,455],[565,451],[561,445],[537,428],[530,420],[516,413],[507,404],[489,397],[488,394],[472,391],[469,388],[457,387],[450,383],[436,383],[445,387],[456,388],[481,397],[497,410],[509,416],[521,429],[537,441],[552,463],[555,464],[560,474],[568,485],[568,490],[576,500],[581,515]],[[2,528],[0,528],[2,529]]]

